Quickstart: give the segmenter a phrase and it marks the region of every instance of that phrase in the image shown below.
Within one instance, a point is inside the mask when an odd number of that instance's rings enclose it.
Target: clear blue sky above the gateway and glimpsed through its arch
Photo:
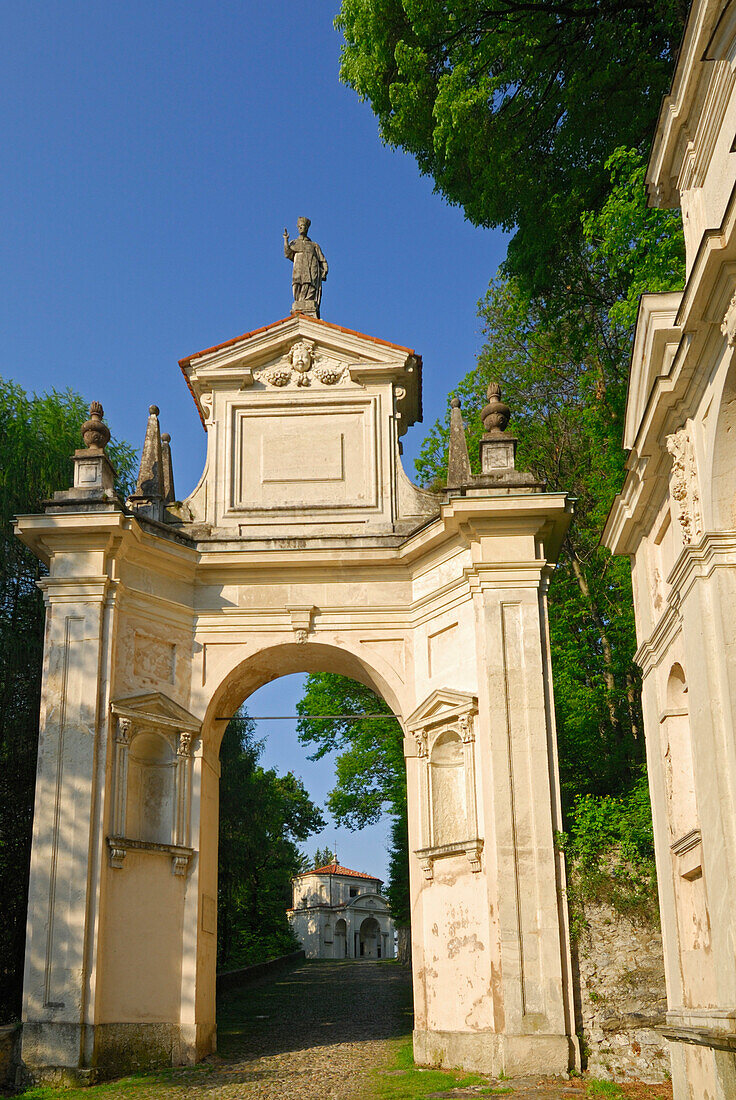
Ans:
[[[338,80],[337,6],[0,4],[0,373],[101,400],[136,447],[157,404],[179,496],[205,433],[178,360],[288,314],[282,232],[298,215],[330,264],[322,316],[424,356],[409,472],[479,350],[475,304],[505,239],[381,144]],[[294,751],[281,729],[267,762],[294,767]],[[345,853],[381,873],[378,839],[363,842]]]

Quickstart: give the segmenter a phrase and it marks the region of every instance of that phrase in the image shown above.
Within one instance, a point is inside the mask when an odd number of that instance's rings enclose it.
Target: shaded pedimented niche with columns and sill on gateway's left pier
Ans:
[[[161,692],[110,704],[112,810],[110,866],[130,850],[164,851],[172,872],[186,875],[190,847],[191,771],[200,723]]]

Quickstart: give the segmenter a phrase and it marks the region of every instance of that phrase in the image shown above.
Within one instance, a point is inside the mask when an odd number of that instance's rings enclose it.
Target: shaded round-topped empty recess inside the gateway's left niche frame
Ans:
[[[171,844],[176,754],[162,734],[133,738],[128,765],[128,834],[133,840]]]

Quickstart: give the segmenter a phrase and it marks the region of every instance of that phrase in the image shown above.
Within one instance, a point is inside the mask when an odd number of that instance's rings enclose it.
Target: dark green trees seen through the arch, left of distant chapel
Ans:
[[[220,748],[218,965],[226,968],[296,950],[286,909],[292,878],[304,870],[297,842],[325,827],[300,779],[259,765],[254,728],[241,711]]]

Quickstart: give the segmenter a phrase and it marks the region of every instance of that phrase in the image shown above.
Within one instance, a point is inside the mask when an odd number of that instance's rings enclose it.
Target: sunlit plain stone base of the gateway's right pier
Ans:
[[[561,1077],[579,1068],[578,1041],[569,1035],[498,1035],[494,1032],[414,1032],[419,1066],[464,1069],[491,1077]]]

